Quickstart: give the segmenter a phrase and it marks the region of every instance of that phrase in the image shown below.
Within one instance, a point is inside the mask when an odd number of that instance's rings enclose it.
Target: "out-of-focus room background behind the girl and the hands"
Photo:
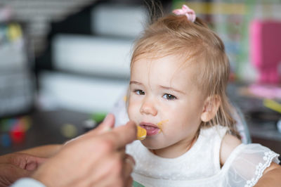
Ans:
[[[249,140],[281,153],[280,0],[0,0],[0,155],[101,122],[126,93],[133,41],[159,3],[164,13],[187,4],[223,39]]]

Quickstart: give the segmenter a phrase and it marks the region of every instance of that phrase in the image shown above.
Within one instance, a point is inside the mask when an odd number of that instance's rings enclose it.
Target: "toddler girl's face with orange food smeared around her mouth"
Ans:
[[[182,155],[197,133],[204,96],[192,82],[196,71],[177,56],[141,58],[131,67],[129,118],[147,130],[142,143],[157,155]]]

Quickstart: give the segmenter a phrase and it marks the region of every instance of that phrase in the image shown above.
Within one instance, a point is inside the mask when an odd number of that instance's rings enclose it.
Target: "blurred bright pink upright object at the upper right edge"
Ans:
[[[281,22],[254,20],[249,37],[251,63],[259,71],[259,83],[280,83]]]

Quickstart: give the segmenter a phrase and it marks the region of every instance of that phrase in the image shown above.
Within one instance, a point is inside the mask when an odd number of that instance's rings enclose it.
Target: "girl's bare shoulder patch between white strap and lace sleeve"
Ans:
[[[231,134],[226,134],[221,141],[220,162],[223,165],[233,150],[239,146],[242,141]]]

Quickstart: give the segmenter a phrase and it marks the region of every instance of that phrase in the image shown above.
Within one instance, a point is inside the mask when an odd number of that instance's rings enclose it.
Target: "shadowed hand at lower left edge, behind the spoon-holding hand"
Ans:
[[[30,176],[44,161],[44,158],[25,153],[0,156],[0,186],[10,186],[17,179]]]

